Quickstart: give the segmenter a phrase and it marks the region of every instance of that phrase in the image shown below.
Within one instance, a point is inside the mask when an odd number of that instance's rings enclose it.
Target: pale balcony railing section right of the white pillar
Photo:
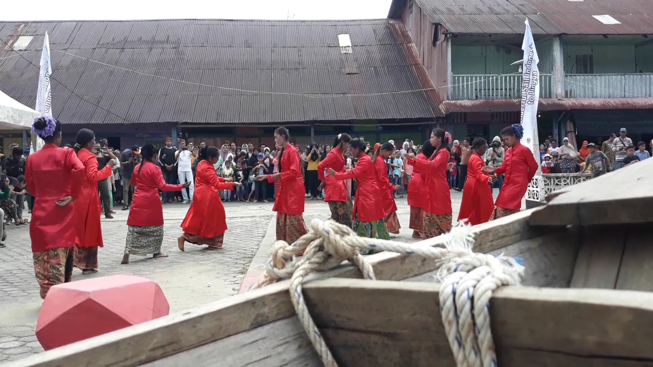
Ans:
[[[566,74],[565,98],[653,97],[653,74]]]

